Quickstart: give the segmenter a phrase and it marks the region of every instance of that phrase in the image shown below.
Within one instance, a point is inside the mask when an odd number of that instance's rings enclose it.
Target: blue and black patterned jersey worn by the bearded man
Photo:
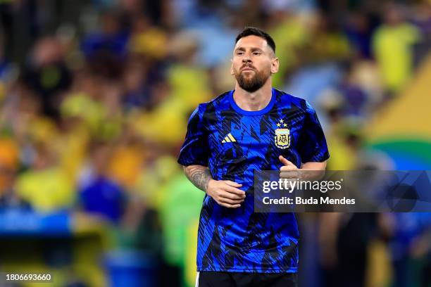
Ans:
[[[208,166],[213,179],[235,181],[246,191],[244,203],[235,209],[205,196],[198,271],[296,272],[299,232],[294,214],[254,212],[254,170],[280,170],[279,155],[298,167],[322,162],[329,158],[325,136],[304,99],[273,89],[266,108],[249,112],[236,105],[233,92],[196,108],[178,159],[181,165]],[[289,129],[288,147],[276,144],[276,129]]]

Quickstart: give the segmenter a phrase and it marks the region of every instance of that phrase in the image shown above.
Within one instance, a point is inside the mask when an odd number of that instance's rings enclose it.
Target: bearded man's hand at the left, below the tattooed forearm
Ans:
[[[211,179],[208,181],[206,194],[225,208],[239,208],[245,198],[245,192],[238,189],[241,186],[242,184],[230,180]]]

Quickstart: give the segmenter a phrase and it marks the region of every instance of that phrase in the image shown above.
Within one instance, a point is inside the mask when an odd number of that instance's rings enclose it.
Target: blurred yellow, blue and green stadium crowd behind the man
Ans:
[[[431,1],[0,0],[0,272],[194,286],[204,197],[176,158],[245,26],[331,170],[431,170]],[[431,286],[431,216],[300,214],[300,286]]]

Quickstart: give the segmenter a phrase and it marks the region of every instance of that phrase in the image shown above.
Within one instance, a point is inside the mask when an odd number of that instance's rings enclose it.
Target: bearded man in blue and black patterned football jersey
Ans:
[[[329,158],[316,112],[273,89],[275,43],[248,27],[238,34],[235,90],[192,113],[178,162],[206,192],[196,286],[296,286],[299,232],[293,213],[254,212],[254,170],[325,170]]]

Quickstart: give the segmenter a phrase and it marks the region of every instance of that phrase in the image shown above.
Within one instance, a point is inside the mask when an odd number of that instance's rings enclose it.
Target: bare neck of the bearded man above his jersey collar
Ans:
[[[239,87],[237,82],[237,84],[235,84],[235,92],[233,94],[235,103],[237,103],[239,108],[247,111],[263,110],[263,108],[268,106],[272,96],[273,89],[270,78],[261,87],[261,89],[252,93]]]

